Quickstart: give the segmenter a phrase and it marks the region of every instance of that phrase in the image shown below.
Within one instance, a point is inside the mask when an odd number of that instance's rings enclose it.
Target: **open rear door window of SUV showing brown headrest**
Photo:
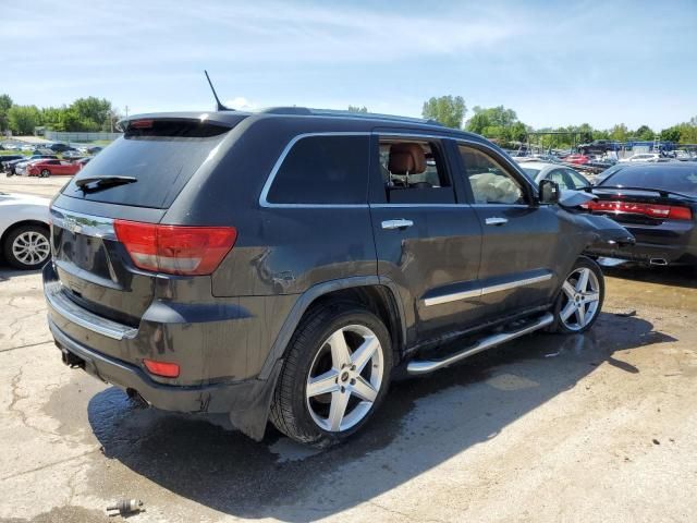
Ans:
[[[455,202],[437,142],[381,138],[379,165],[388,203]]]

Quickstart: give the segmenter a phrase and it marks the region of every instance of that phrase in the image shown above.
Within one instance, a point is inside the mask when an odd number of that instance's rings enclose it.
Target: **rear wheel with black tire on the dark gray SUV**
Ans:
[[[352,303],[310,312],[301,323],[271,404],[271,422],[291,439],[337,443],[363,427],[387,394],[392,344],[384,324]]]

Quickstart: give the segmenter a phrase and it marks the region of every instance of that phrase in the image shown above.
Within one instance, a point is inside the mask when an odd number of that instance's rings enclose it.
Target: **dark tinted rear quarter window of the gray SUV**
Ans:
[[[298,139],[276,173],[272,204],[365,204],[368,136],[308,136]]]

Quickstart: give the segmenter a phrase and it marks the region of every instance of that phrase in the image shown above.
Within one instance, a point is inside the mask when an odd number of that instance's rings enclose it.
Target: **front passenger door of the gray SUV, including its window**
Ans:
[[[461,143],[457,151],[482,229],[482,308],[505,316],[546,305],[559,287],[558,267],[573,254],[560,252],[555,206],[537,205],[527,179],[496,149]]]

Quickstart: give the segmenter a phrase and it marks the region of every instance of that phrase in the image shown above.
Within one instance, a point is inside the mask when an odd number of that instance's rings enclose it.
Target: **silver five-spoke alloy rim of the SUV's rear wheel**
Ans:
[[[380,341],[363,325],[342,327],[318,351],[307,377],[305,397],[314,422],[340,433],[359,423],[382,386]]]

